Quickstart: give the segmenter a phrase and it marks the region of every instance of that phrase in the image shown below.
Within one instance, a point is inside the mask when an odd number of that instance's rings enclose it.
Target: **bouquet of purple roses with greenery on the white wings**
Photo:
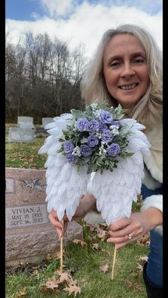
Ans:
[[[128,136],[131,129],[123,129],[120,119],[125,110],[119,105],[115,109],[106,102],[93,103],[85,111],[71,110],[71,124],[63,130],[62,142],[58,152],[65,155],[70,164],[88,164],[88,174],[103,169],[113,171],[118,157],[132,156],[127,151]]]

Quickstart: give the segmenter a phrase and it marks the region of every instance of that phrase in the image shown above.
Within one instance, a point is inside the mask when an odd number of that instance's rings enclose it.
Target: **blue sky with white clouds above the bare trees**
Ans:
[[[161,0],[6,0],[6,32],[17,43],[26,32],[80,43],[90,57],[103,33],[123,23],[146,28],[162,49]]]

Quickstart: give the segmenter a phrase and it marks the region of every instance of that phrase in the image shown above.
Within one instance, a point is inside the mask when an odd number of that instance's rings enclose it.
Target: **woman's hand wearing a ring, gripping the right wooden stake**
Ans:
[[[132,213],[130,218],[122,218],[110,225],[111,236],[108,243],[116,243],[116,249],[141,238],[145,233],[162,224],[162,212],[151,207],[145,211]]]

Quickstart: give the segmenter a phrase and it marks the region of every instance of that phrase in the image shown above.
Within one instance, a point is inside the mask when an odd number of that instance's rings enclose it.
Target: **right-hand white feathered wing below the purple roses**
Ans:
[[[132,211],[132,201],[137,201],[144,177],[142,155],[149,155],[150,144],[140,129],[145,127],[134,119],[122,119],[124,129],[131,129],[128,137],[128,151],[134,152],[126,159],[118,157],[117,168],[113,171],[96,171],[88,183],[88,193],[96,198],[98,211],[101,212],[107,225],[121,218],[129,218]]]

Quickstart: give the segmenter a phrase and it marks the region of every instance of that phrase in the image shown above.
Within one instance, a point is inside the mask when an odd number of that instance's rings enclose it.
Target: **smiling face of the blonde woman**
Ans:
[[[135,107],[149,85],[145,50],[135,36],[111,39],[103,55],[103,73],[110,95],[125,109]]]

